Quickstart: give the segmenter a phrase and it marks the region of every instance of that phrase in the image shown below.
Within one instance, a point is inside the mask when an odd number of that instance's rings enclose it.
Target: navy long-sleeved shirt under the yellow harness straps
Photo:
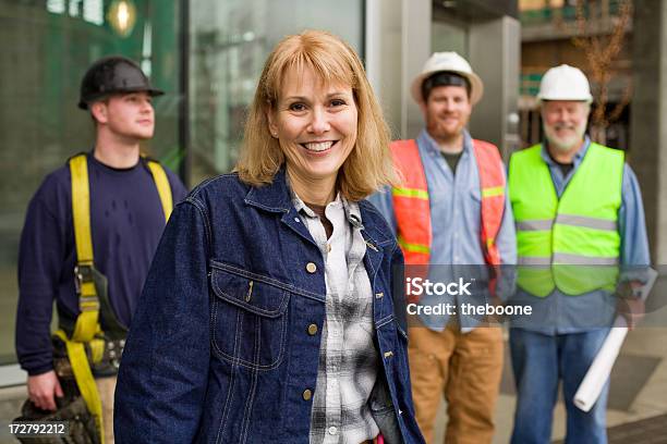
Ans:
[[[165,229],[165,212],[143,160],[117,170],[92,155],[87,159],[95,268],[107,276],[118,320],[129,325]],[[178,176],[166,172],[175,205],[186,190]],[[33,196],[21,234],[16,355],[28,374],[52,369],[53,299],[60,316],[73,321],[78,314],[75,263],[71,174],[65,164],[49,174]]]

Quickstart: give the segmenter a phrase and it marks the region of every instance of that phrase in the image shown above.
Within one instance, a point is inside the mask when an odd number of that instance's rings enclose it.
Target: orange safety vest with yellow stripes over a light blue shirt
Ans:
[[[401,173],[401,187],[392,188],[398,239],[407,264],[428,264],[433,231],[428,186],[416,140],[396,140],[390,145],[393,163]],[[495,145],[473,140],[482,188],[481,242],[489,266],[500,264],[496,235],[502,222],[506,178],[502,160]]]

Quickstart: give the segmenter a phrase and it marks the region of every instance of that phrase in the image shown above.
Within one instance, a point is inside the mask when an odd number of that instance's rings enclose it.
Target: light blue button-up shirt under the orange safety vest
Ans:
[[[432,282],[444,282],[452,278],[456,280],[461,275],[470,276],[477,271],[482,271],[482,269],[485,270],[485,267],[480,267],[486,263],[480,237],[482,190],[470,133],[468,131],[463,132],[463,152],[457,165],[456,174],[444,159],[438,144],[426,130],[422,131],[416,141],[424,175],[426,176],[430,207],[433,242],[428,279]],[[391,190],[386,189],[376,193],[371,196],[369,200],[385,215],[391,230],[397,234]],[[500,262],[502,264],[516,264],[517,236],[507,190],[502,222],[496,236],[496,244],[500,254]],[[498,295],[501,298],[507,298],[512,292],[513,279],[498,281]],[[437,296],[434,300],[437,299],[438,304],[458,304],[465,301],[464,298],[466,297],[470,296],[457,298],[456,296],[442,295]],[[480,295],[478,293],[474,294],[473,297],[477,299],[477,303],[485,303],[485,299],[487,299],[487,295]],[[421,303],[429,304],[427,298],[422,298]],[[438,316],[437,320],[432,318],[427,321],[427,326],[433,330],[441,330],[447,320],[447,316]],[[471,320],[472,322],[468,324],[463,319],[460,319],[460,321],[464,331],[476,324],[474,320]]]

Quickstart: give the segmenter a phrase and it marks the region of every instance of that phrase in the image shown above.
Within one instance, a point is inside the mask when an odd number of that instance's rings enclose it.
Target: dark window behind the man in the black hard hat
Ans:
[[[16,361],[16,260],[27,203],[48,172],[93,148],[90,116],[76,107],[90,62],[123,54],[150,70],[167,95],[155,101],[156,137],[145,148],[178,171],[175,3],[0,0],[0,365]]]

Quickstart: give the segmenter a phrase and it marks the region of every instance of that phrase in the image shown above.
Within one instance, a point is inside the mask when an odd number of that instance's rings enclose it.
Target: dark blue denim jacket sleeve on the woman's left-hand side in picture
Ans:
[[[209,365],[205,208],[178,205],[132,321],[116,391],[116,442],[192,442]]]

